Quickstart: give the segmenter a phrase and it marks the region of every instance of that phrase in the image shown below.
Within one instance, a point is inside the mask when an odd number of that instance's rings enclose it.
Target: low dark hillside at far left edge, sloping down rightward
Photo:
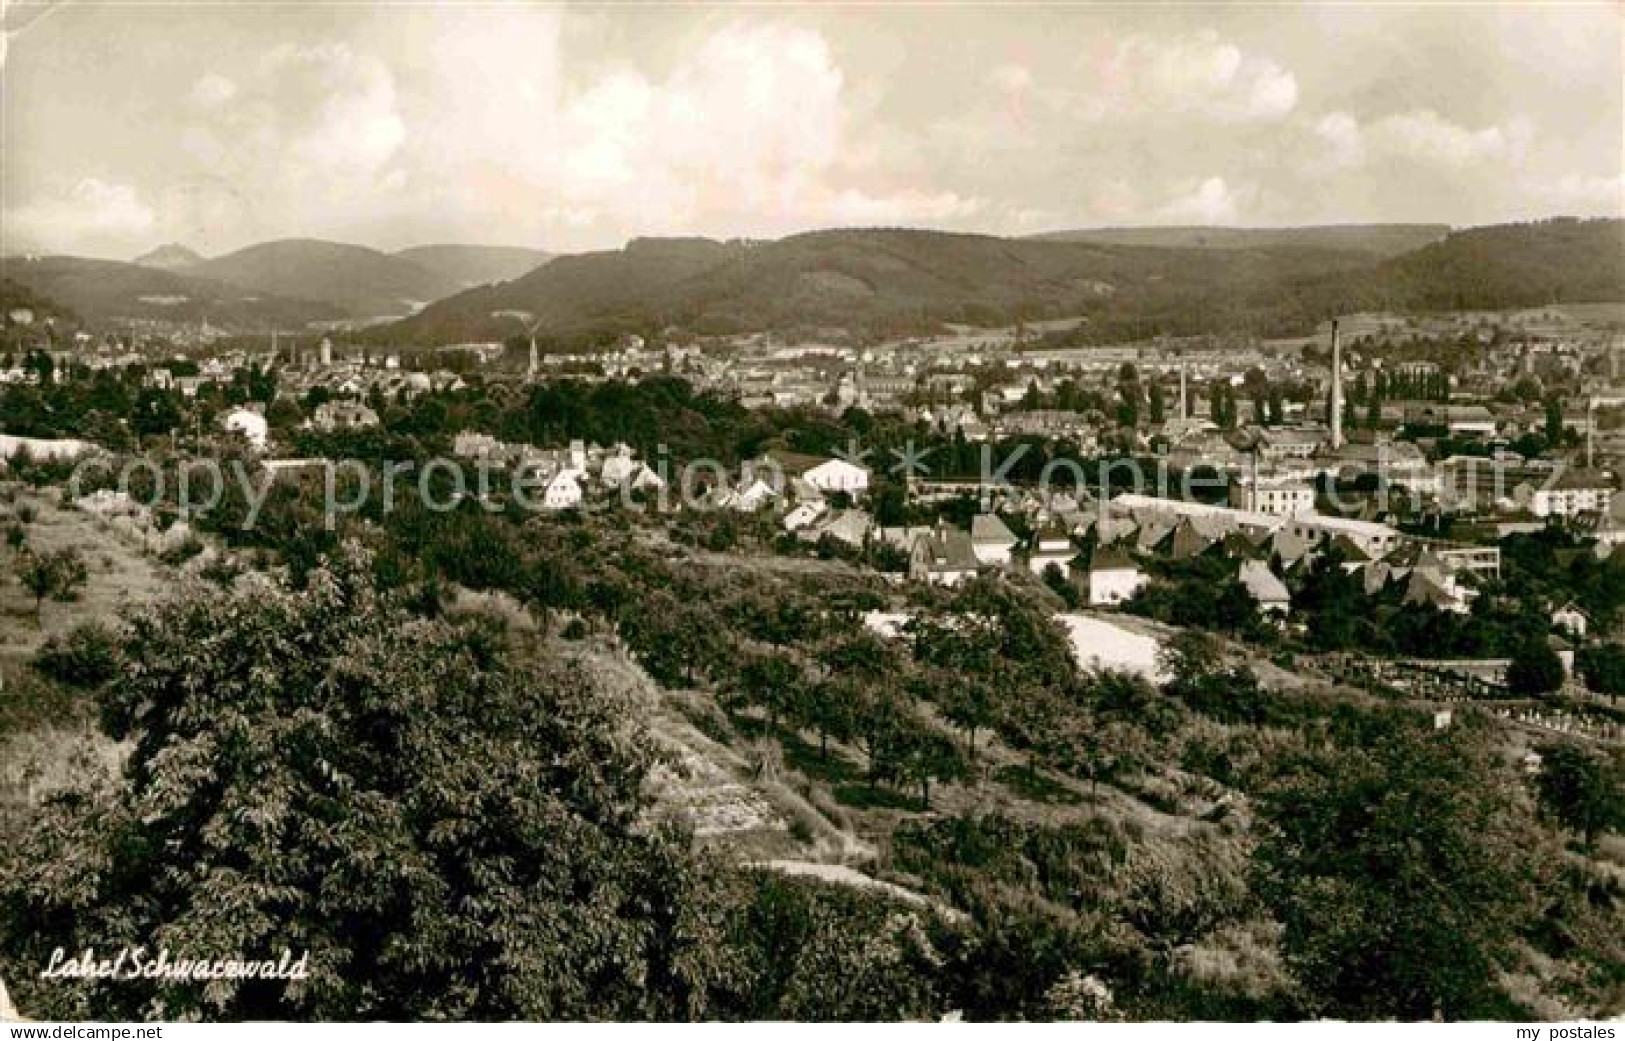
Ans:
[[[13,257],[5,278],[49,297],[86,322],[200,322],[257,330],[340,318],[330,304],[249,292],[226,283],[117,260]]]

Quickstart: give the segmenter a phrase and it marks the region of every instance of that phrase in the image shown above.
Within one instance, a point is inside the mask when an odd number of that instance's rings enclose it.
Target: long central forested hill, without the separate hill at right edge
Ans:
[[[1162,250],[960,235],[826,231],[777,242],[635,240],[561,257],[525,278],[458,294],[390,326],[416,343],[514,333],[526,312],[562,341],[681,325],[700,333],[842,326],[900,335],[944,322],[998,325],[1087,313],[1115,323],[1172,310],[1228,313],[1264,286],[1347,271],[1358,253]],[[1245,322],[1245,317],[1237,315]]]

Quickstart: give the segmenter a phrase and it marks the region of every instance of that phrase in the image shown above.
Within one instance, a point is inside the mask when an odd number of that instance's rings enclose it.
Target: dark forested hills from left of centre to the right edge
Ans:
[[[1152,247],[928,231],[824,231],[774,242],[642,239],[559,257],[380,330],[395,343],[515,336],[582,346],[676,325],[696,333],[838,326],[879,338],[947,322],[1089,317],[1098,341],[1155,333],[1290,335],[1342,310],[1625,299],[1622,221],[1454,232],[1373,260],[1274,244]],[[528,318],[526,318],[528,317]]]

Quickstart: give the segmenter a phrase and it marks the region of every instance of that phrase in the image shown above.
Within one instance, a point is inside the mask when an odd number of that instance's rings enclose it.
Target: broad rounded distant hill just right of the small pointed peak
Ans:
[[[323,300],[351,318],[408,315],[463,287],[460,279],[364,245],[317,239],[260,242],[187,268],[257,292]]]

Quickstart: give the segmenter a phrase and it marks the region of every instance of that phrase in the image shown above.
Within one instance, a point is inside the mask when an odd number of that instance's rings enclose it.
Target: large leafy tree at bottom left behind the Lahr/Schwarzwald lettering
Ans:
[[[624,693],[411,617],[364,557],[132,619],[122,776],[0,848],[0,950],[280,957],[286,981],[32,983],[54,1018],[696,1018],[744,979],[722,880],[640,820]],[[723,885],[722,888],[726,888]],[[297,955],[296,955],[297,957]],[[20,984],[23,981],[18,981]]]

